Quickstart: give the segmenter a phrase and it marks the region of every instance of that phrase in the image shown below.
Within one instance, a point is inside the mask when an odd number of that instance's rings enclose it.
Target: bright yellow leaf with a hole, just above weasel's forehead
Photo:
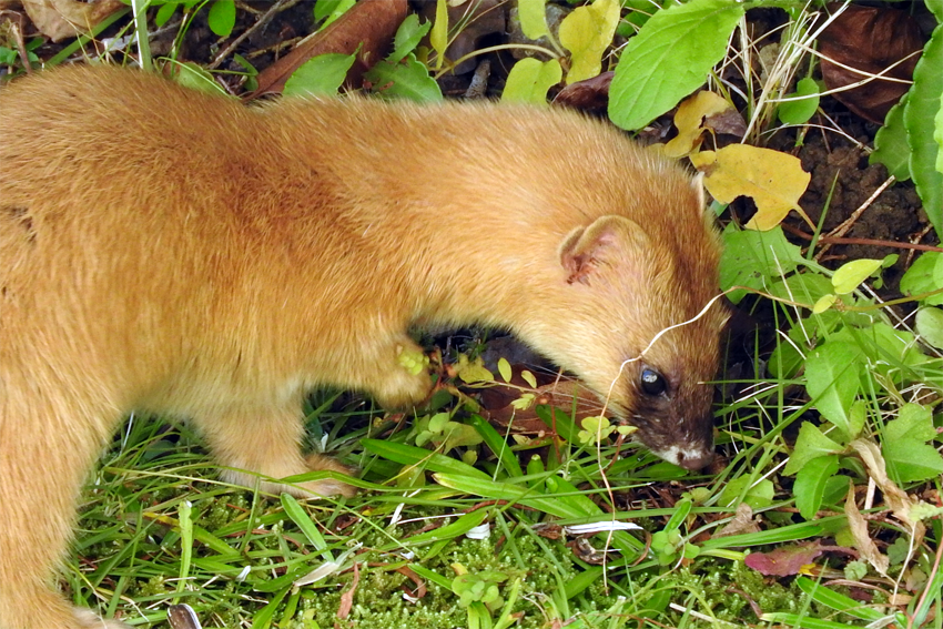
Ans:
[[[701,151],[691,163],[704,173],[704,186],[721,203],[750,196],[757,213],[747,229],[765,231],[779,225],[790,210],[802,212],[799,197],[811,175],[798,158],[749,144],[731,144],[719,151]]]

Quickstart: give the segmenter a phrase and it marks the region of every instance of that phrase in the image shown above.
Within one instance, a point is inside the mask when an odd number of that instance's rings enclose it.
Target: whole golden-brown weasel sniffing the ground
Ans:
[[[639,439],[711,456],[724,315],[700,186],[577,113],[284,99],[111,68],[0,92],[0,629],[102,627],[54,589],[122,416],[191,419],[231,481],[304,458],[315,385],[408,406],[413,324],[500,326]],[[627,362],[628,361],[628,362]],[[327,495],[318,480],[268,491]],[[119,627],[115,621],[105,626]]]

